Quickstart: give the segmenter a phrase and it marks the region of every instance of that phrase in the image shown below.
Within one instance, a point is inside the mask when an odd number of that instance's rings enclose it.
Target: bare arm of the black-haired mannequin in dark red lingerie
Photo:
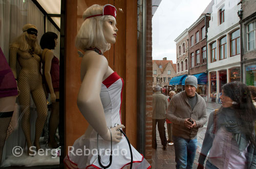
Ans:
[[[52,50],[47,50],[45,52],[45,57],[44,57],[44,60],[45,60],[45,77],[46,77],[47,85],[48,85],[49,90],[51,92],[51,101],[55,102],[56,96],[55,96],[55,93],[54,93],[54,90],[53,90],[52,77],[51,77],[51,74],[50,74],[53,57],[54,57],[54,54],[53,54]]]

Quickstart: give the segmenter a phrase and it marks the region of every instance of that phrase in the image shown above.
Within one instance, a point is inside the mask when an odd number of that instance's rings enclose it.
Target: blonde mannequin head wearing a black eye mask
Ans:
[[[22,28],[23,33],[18,36],[13,44],[17,44],[20,50],[28,51],[34,49],[36,54],[41,52],[41,48],[37,41],[37,28],[33,24],[25,24]]]

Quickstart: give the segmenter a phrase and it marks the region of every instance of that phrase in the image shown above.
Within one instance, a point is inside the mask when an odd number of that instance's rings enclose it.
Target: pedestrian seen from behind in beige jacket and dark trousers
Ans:
[[[167,109],[167,99],[166,99],[166,96],[161,94],[160,86],[156,86],[154,89],[155,89],[155,94],[153,94],[152,148],[157,149],[157,139],[156,139],[156,125],[157,125],[163,150],[166,150],[167,139],[165,134],[164,123],[165,123],[165,113]]]

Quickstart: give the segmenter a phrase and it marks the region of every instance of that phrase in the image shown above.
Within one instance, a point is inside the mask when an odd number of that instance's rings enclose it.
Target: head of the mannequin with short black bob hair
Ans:
[[[54,32],[47,32],[44,35],[42,35],[40,40],[40,46],[42,49],[54,49],[57,45],[57,39],[58,35]]]

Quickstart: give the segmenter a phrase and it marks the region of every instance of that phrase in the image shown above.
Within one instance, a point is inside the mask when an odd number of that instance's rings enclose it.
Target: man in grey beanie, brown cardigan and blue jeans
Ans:
[[[197,150],[197,132],[207,121],[206,103],[196,93],[197,78],[188,75],[185,91],[170,100],[166,118],[173,123],[176,168],[192,169]]]

